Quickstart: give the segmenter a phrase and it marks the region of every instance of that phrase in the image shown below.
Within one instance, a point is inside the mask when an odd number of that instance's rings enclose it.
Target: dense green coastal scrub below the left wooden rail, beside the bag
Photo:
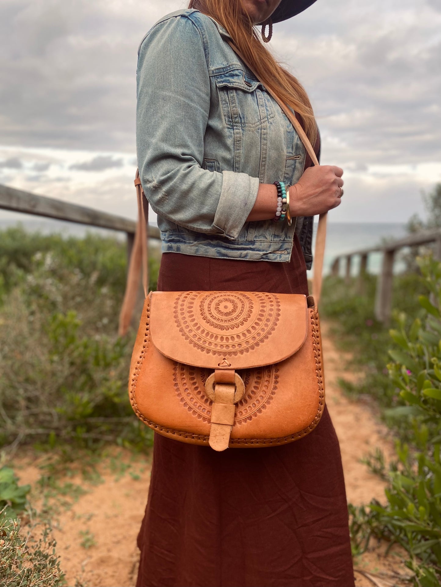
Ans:
[[[117,335],[125,243],[9,229],[0,276],[0,445],[149,446],[127,393],[135,333]]]

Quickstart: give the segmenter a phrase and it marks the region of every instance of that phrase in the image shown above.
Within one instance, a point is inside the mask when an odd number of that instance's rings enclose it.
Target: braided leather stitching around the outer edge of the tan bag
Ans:
[[[138,409],[138,405],[136,404],[136,400],[135,400],[135,387],[136,387],[136,382],[138,380],[139,372],[142,367],[142,363],[143,363],[143,359],[144,359],[146,350],[148,349],[148,346],[149,346],[149,340],[150,340],[150,332],[149,332],[150,321],[149,321],[149,318],[150,318],[150,303],[149,303],[149,306],[147,309],[147,322],[146,322],[146,330],[145,330],[145,335],[144,335],[144,344],[142,346],[141,355],[139,356],[139,359],[136,362],[135,372],[133,373],[133,377],[132,377],[132,385],[131,385],[131,393],[130,393],[130,403],[132,405],[132,409],[133,409],[133,411],[135,411],[136,416],[138,416],[138,418],[140,420],[142,420],[152,430],[157,430],[159,432],[165,432],[166,434],[171,434],[172,436],[179,436],[182,438],[189,438],[192,440],[199,440],[199,441],[208,443],[209,436],[206,436],[205,434],[189,434],[189,433],[185,433],[185,432],[179,432],[178,430],[173,430],[171,428],[165,428],[163,426],[159,426],[159,424],[155,424],[154,422],[146,419],[146,417],[143,416]],[[322,412],[323,412],[323,406],[324,406],[323,400],[325,399],[325,390],[323,389],[322,353],[320,351],[318,312],[311,309],[310,310],[310,319],[311,319],[311,325],[312,325],[312,340],[313,340],[312,344],[313,344],[313,352],[314,352],[315,364],[316,364],[316,377],[317,377],[317,382],[318,382],[318,386],[319,386],[319,407],[317,409],[314,420],[309,424],[309,426],[307,426],[303,430],[300,430],[299,432],[296,432],[295,434],[291,434],[290,436],[285,436],[285,437],[281,437],[281,438],[270,438],[268,440],[265,440],[263,438],[232,438],[232,439],[230,439],[230,445],[231,444],[242,444],[242,445],[260,444],[260,445],[262,445],[263,444],[264,446],[271,446],[273,444],[285,444],[285,443],[289,442],[290,440],[296,440],[299,438],[303,438],[303,436],[306,436],[307,434],[312,432],[312,430],[314,430],[315,427],[317,426],[317,424],[319,423],[320,418],[322,416]]]

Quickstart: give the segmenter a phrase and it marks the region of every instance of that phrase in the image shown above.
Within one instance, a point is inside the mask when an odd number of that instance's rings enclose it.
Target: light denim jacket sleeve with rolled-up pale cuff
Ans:
[[[184,15],[159,22],[141,44],[137,96],[138,166],[153,210],[189,230],[237,238],[259,178],[202,168],[210,79],[201,34]]]

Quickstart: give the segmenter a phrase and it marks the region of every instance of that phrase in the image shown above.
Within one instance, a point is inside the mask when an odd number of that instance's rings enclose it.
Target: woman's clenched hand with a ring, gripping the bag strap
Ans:
[[[333,165],[308,167],[298,183],[289,188],[292,217],[323,214],[342,203],[343,170]]]

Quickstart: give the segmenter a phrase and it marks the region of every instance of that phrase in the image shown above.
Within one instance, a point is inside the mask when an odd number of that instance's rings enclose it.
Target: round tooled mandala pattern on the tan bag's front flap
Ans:
[[[268,339],[279,322],[280,302],[260,292],[182,292],[174,312],[179,332],[195,348],[237,356]]]

